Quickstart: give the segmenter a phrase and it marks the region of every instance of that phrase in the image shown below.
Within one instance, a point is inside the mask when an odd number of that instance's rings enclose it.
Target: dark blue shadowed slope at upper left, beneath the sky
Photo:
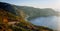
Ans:
[[[16,13],[15,13],[16,10],[13,8],[13,6],[11,4],[0,2],[0,8],[5,9],[6,11],[11,12],[14,15],[16,15]]]

